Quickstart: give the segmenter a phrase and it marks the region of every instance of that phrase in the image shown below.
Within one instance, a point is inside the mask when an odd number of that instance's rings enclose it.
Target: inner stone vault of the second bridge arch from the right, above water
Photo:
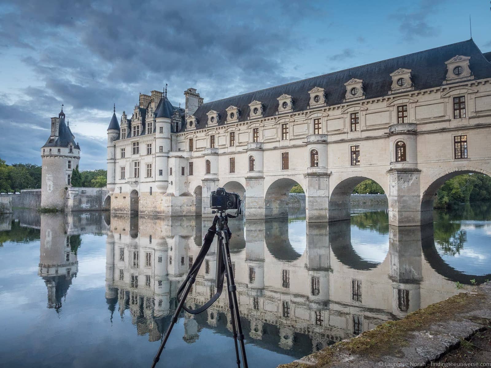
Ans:
[[[334,189],[329,196],[329,221],[348,220],[350,218],[351,193],[353,193],[356,185],[367,179],[371,179],[381,185],[382,189],[387,193],[386,188],[384,188],[382,184],[367,176],[354,176],[344,179],[334,186]]]

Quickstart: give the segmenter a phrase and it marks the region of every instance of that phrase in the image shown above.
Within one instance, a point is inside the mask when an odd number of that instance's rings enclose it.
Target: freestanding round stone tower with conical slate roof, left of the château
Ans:
[[[58,117],[51,118],[51,135],[41,147],[41,159],[41,208],[63,210],[72,171],[80,160],[80,146],[65,124],[63,105]]]

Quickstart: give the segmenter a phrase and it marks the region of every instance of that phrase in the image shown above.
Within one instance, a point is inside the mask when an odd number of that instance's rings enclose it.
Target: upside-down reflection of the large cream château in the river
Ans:
[[[109,309],[128,309],[138,334],[159,340],[175,294],[196,258],[208,221],[111,215],[107,238]],[[306,224],[305,250],[291,246],[287,220],[230,221],[241,316],[249,342],[301,356],[455,293],[422,257],[419,229],[389,228],[389,252],[366,262],[351,244],[350,222]],[[290,224],[291,225],[291,224]],[[424,237],[424,236],[423,236]],[[188,304],[215,293],[216,254],[208,253]],[[186,342],[202,328],[231,336],[226,293],[206,312],[184,314]]]

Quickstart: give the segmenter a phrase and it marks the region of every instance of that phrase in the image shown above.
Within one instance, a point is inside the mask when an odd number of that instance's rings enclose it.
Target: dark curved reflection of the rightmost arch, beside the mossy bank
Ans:
[[[446,263],[436,250],[435,238],[433,236],[433,225],[427,224],[421,227],[421,245],[423,247],[423,255],[426,262],[441,276],[448,280],[460,282],[461,284],[470,285],[470,280],[475,279],[478,284],[485,282],[487,279],[491,279],[491,273],[488,275],[477,276],[468,275],[461,271],[456,270]]]

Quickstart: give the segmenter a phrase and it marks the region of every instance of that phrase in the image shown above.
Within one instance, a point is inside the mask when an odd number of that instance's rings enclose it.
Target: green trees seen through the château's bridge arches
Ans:
[[[303,193],[300,184],[291,193]],[[355,186],[353,194],[385,194],[382,186],[367,179]],[[462,203],[491,201],[491,177],[484,174],[464,174],[445,182],[437,191],[434,207],[449,208]]]

